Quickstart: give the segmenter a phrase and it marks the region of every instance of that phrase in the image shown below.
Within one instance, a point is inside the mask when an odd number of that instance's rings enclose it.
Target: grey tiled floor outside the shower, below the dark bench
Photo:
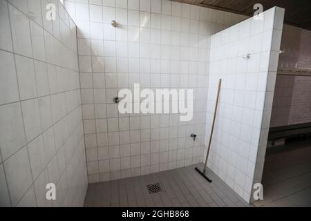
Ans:
[[[265,157],[263,198],[255,206],[311,206],[311,140]]]

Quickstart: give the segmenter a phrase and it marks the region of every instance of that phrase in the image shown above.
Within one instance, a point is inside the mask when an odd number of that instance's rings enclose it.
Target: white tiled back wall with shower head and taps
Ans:
[[[200,162],[209,39],[245,17],[166,0],[68,0],[65,7],[78,30],[88,182]],[[134,83],[194,88],[194,118],[120,115],[113,97]]]

